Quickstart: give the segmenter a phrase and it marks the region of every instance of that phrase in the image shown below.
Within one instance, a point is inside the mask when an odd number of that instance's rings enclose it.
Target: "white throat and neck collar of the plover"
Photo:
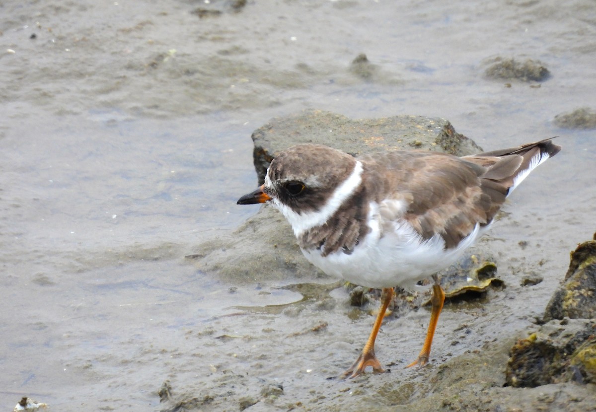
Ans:
[[[285,219],[290,222],[292,229],[294,229],[294,235],[296,237],[302,235],[306,230],[312,229],[313,227],[321,226],[333,216],[334,213],[340,208],[346,199],[348,199],[354,191],[360,186],[362,182],[362,163],[356,161],[354,170],[350,176],[342,182],[341,185],[333,191],[333,195],[327,200],[324,207],[318,211],[305,212],[298,214],[291,210],[290,207],[281,204],[278,199],[273,199],[272,203],[275,207],[285,216]],[[265,186],[271,187],[271,179],[269,174],[265,176]]]

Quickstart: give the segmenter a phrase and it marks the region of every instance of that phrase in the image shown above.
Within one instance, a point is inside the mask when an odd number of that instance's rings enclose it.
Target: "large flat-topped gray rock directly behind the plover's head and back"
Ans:
[[[305,110],[271,120],[252,134],[254,168],[259,185],[271,160],[282,150],[300,143],[318,143],[358,156],[370,152],[421,149],[458,156],[482,148],[455,132],[443,118],[393,116],[353,120],[328,111]]]

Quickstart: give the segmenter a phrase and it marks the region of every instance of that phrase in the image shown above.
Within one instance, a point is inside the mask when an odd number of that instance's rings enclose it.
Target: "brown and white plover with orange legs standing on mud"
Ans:
[[[477,155],[392,151],[358,158],[302,144],[272,160],[265,183],[238,204],[268,202],[290,222],[305,257],[327,274],[383,289],[383,304],[360,357],[344,376],[372,366],[374,342],[393,288],[434,279],[426,340],[409,366],[429,361],[445,293],[437,271],[491,226],[505,198],[560,151],[545,139]]]

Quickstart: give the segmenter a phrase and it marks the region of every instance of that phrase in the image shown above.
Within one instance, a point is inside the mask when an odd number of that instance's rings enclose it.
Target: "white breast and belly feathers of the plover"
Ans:
[[[340,250],[323,257],[316,249],[303,250],[303,254],[325,273],[355,285],[412,289],[419,280],[455,263],[481,234],[477,224],[457,248],[445,249],[445,241],[440,235],[424,240],[406,220],[381,221],[380,207],[386,205],[371,202],[368,214],[370,232],[356,245],[352,254]],[[483,227],[482,232],[486,229],[488,227]]]

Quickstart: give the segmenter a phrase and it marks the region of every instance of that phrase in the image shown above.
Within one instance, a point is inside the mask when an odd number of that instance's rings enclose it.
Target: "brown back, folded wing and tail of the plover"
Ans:
[[[368,182],[363,183],[367,197],[381,204],[386,220],[401,216],[424,239],[439,233],[445,247],[453,248],[476,224],[491,223],[532,158],[559,150],[547,139],[462,158],[433,152],[372,154],[361,158],[368,170]],[[388,198],[393,202],[383,207]],[[405,206],[405,211],[396,205]]]

